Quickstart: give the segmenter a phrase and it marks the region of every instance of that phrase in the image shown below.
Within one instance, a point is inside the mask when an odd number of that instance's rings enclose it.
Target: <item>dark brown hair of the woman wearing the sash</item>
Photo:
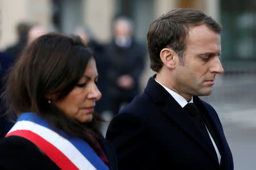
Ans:
[[[27,46],[16,61],[7,79],[5,96],[10,109],[18,117],[35,112],[49,125],[65,133],[80,137],[94,149],[94,139],[100,135],[101,118],[93,113],[93,120],[80,123],[65,116],[46,95],[63,99],[77,85],[93,53],[80,37],[48,33]]]

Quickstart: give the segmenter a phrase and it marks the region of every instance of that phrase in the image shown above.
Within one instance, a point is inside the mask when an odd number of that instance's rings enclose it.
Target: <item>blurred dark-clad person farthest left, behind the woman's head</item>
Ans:
[[[13,58],[18,58],[19,54],[22,52],[27,44],[28,31],[32,27],[31,23],[20,22],[16,26],[16,35],[18,36],[18,41],[14,45],[9,46],[5,52],[9,53]]]

